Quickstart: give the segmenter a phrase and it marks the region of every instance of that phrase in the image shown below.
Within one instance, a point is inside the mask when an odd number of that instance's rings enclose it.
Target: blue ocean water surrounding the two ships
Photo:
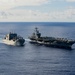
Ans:
[[[0,75],[75,75],[75,45],[72,50],[37,46],[8,46],[1,38],[16,32],[26,40],[38,27],[42,36],[75,40],[75,23],[0,23]]]

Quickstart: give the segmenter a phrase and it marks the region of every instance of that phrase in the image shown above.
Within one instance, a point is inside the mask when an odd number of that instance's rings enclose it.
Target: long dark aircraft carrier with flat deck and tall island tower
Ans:
[[[58,48],[67,48],[71,49],[72,45],[75,43],[75,40],[69,40],[66,38],[55,38],[55,37],[43,37],[39,32],[38,28],[35,28],[35,32],[28,37],[30,43],[44,45],[48,47],[58,47]]]

